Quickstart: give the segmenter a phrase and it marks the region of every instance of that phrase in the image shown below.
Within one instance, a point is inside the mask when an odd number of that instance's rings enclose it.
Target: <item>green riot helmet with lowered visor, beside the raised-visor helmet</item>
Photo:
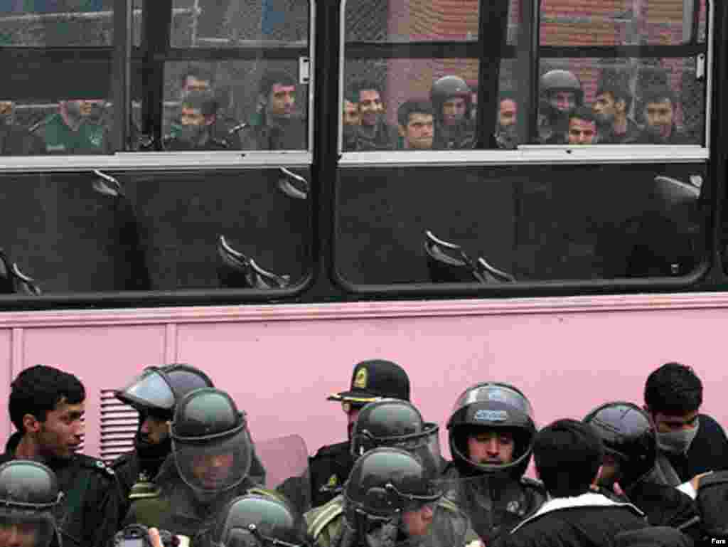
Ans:
[[[248,476],[253,453],[248,422],[224,391],[202,387],[184,396],[170,436],[179,474],[199,499],[213,498]]]

